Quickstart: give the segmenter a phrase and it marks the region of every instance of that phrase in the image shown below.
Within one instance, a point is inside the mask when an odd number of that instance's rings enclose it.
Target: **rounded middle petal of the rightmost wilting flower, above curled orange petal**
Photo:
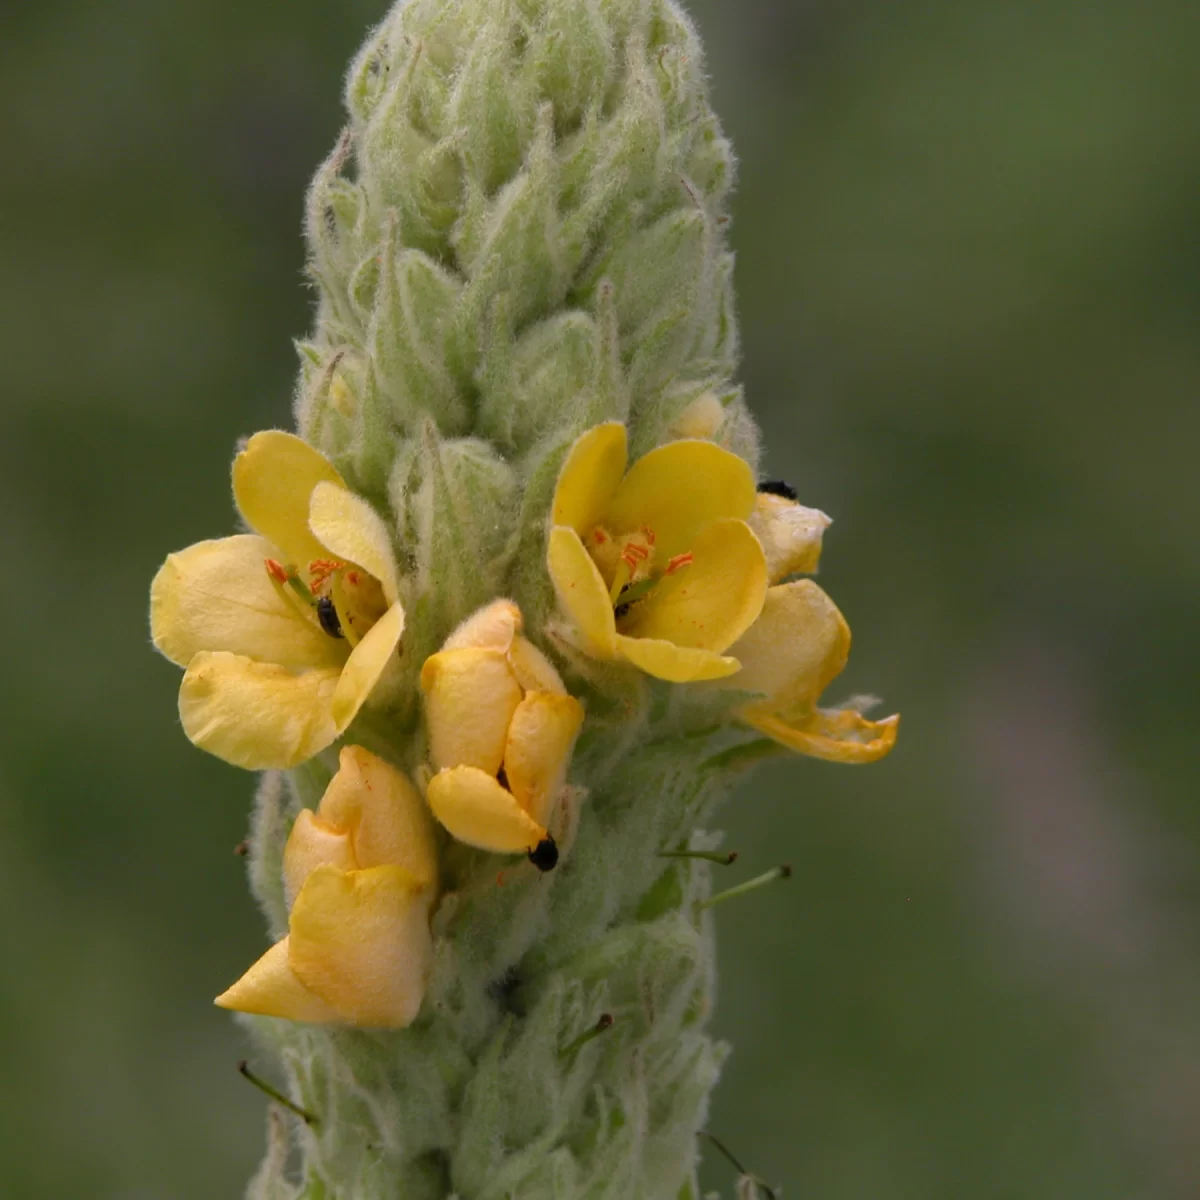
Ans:
[[[811,709],[846,666],[850,626],[811,580],[767,589],[762,616],[732,646],[742,671],[730,685],[758,691],[775,707]]]

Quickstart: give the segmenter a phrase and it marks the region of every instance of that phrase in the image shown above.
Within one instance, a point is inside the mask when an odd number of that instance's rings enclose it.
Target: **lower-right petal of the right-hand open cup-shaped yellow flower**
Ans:
[[[706,526],[692,562],[667,575],[622,618],[630,637],[653,637],[718,653],[758,618],[767,595],[767,562],[744,521]]]

